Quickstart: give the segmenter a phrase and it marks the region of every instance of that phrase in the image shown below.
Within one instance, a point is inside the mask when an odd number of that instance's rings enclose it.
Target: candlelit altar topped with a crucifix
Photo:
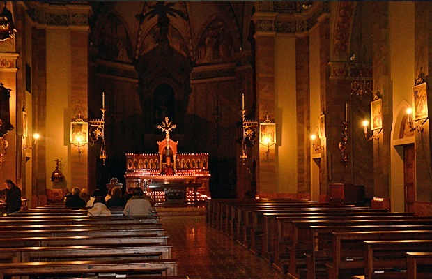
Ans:
[[[158,128],[165,138],[157,142],[157,153],[126,153],[126,187],[141,187],[155,202],[197,202],[210,197],[208,153],[178,153],[178,142],[169,135],[176,126],[165,118]]]

